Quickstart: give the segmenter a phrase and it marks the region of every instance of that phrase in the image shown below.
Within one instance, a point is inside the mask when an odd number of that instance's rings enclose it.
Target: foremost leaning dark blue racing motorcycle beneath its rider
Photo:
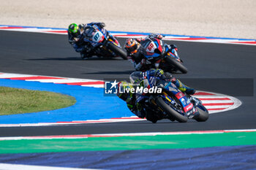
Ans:
[[[188,119],[195,119],[198,122],[208,120],[208,110],[203,106],[200,99],[186,96],[181,90],[178,90],[173,82],[158,80],[156,77],[147,76],[140,82],[144,88],[162,88],[161,93],[137,93],[137,101],[143,102],[143,109],[150,110],[157,120],[169,119],[177,120],[180,123],[186,123]]]

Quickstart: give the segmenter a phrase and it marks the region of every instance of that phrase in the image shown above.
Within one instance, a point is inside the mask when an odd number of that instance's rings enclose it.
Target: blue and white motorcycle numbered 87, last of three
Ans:
[[[90,26],[83,31],[83,36],[83,41],[89,42],[94,50],[94,55],[108,58],[121,57],[127,60],[127,53],[121,49],[117,39],[105,28],[99,28],[96,25]]]

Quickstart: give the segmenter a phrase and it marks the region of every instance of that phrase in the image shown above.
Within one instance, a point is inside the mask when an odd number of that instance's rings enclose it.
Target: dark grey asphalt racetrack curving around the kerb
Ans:
[[[118,38],[121,45],[124,40]],[[188,74],[175,74],[199,89],[235,96],[241,107],[210,115],[205,123],[162,120],[127,123],[0,128],[0,136],[109,134],[163,131],[206,131],[256,128],[256,46],[202,42],[168,42],[178,46]],[[134,69],[121,58],[81,60],[66,35],[0,31],[0,72],[77,77],[95,80],[124,79]],[[224,83],[225,82],[225,83]],[[95,108],[97,109],[97,108]]]

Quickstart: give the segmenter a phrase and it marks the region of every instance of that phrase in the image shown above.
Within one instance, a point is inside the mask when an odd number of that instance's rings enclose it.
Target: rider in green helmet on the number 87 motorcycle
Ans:
[[[72,45],[76,52],[80,53],[81,58],[89,58],[93,55],[91,47],[88,42],[83,41],[83,31],[87,27],[97,25],[99,28],[104,28],[105,23],[87,23],[79,24],[72,23],[68,27],[68,40],[69,44]]]

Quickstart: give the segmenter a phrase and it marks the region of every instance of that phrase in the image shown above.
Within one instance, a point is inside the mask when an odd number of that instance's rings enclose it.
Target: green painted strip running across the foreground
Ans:
[[[256,144],[256,132],[0,141],[0,153],[151,150]]]

